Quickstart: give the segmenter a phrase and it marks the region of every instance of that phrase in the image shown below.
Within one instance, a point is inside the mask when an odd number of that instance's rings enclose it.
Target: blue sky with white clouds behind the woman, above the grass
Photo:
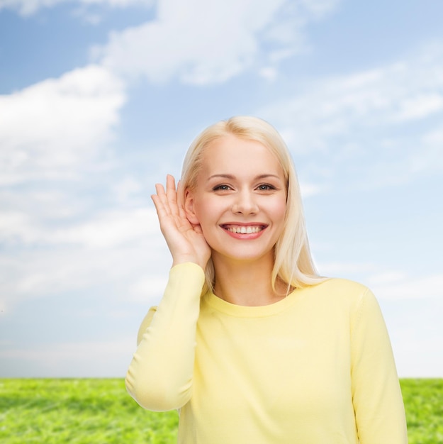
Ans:
[[[171,261],[150,200],[194,136],[267,119],[322,274],[400,377],[443,377],[443,4],[0,0],[0,377],[122,377]]]

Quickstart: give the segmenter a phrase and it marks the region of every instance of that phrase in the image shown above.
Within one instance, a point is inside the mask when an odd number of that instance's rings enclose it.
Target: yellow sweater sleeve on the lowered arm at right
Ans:
[[[380,307],[368,289],[359,299],[351,334],[352,400],[360,444],[407,444],[391,342]]]

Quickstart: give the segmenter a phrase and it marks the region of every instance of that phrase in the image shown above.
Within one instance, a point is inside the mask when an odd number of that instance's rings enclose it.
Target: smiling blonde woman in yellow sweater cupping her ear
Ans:
[[[258,118],[198,135],[152,196],[172,254],[126,387],[179,409],[183,444],[405,444],[391,344],[369,289],[313,266],[288,149]]]

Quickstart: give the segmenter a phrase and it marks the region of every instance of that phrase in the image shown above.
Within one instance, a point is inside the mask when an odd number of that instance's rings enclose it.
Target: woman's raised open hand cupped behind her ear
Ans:
[[[192,225],[184,211],[181,201],[180,183],[175,189],[175,180],[167,175],[166,192],[161,184],[155,185],[157,194],[153,194],[155,209],[159,218],[160,229],[172,254],[172,265],[195,262],[203,270],[211,257],[211,248],[203,236],[199,225]]]

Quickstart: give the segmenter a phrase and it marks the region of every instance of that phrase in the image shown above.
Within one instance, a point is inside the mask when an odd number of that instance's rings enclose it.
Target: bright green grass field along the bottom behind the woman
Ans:
[[[410,444],[443,444],[443,379],[402,379]],[[176,412],[141,409],[122,379],[0,379],[0,442],[173,444]]]

